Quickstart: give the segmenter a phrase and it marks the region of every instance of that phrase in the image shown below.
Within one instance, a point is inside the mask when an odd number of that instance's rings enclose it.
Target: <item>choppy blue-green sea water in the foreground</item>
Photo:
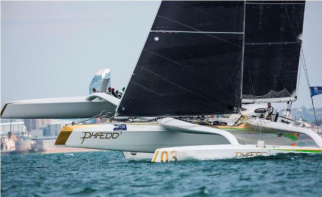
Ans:
[[[99,151],[1,156],[1,196],[322,196],[322,154],[152,163]]]

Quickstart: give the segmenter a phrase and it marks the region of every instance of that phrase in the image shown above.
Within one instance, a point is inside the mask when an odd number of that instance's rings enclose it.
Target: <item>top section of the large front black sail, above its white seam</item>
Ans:
[[[243,1],[163,1],[151,30],[243,32],[243,7]]]

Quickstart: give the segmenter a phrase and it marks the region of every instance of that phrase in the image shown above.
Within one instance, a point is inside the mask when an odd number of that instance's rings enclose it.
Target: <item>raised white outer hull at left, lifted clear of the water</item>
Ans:
[[[114,113],[120,99],[99,92],[89,96],[44,98],[5,103],[1,118],[90,118]],[[105,115],[105,114],[104,114]]]

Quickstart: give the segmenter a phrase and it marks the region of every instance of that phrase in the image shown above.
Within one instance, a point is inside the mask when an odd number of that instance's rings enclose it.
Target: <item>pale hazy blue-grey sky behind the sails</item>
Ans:
[[[0,103],[86,96],[111,69],[126,86],[160,1],[1,1]],[[303,51],[311,86],[322,86],[322,1],[306,1]],[[322,107],[322,95],[313,97]],[[274,104],[281,108],[285,104]],[[293,107],[312,107],[304,72]]]

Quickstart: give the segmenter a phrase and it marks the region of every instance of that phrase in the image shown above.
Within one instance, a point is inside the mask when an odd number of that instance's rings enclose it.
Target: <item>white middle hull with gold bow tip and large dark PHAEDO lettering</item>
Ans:
[[[176,132],[159,124],[105,124],[64,126],[55,144],[154,153],[164,147],[230,143],[218,134]]]

